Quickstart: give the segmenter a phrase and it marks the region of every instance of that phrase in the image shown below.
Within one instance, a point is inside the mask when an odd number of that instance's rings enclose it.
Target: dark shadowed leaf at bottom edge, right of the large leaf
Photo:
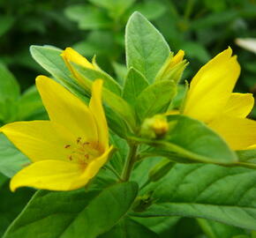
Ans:
[[[132,219],[121,219],[118,224],[109,230],[108,233],[102,234],[99,238],[157,238],[159,237],[147,227],[139,224]]]

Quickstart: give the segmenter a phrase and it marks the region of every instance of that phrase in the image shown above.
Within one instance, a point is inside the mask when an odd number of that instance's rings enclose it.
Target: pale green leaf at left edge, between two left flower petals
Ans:
[[[0,173],[12,177],[21,168],[25,167],[29,160],[24,154],[11,144],[11,142],[0,134]]]

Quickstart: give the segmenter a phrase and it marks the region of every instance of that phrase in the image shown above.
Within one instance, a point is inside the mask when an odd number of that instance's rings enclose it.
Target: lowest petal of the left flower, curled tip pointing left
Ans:
[[[72,183],[83,174],[77,163],[60,160],[42,160],[23,168],[11,179],[11,191],[19,187],[34,187],[39,190],[76,190]],[[84,180],[83,185],[88,182]],[[80,184],[81,184],[80,183]]]

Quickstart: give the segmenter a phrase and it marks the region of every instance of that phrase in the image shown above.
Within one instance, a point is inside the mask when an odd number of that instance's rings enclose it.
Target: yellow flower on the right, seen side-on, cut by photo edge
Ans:
[[[219,133],[233,150],[256,148],[256,122],[245,118],[252,110],[251,93],[232,93],[240,66],[228,48],[192,78],[184,102],[189,115]]]

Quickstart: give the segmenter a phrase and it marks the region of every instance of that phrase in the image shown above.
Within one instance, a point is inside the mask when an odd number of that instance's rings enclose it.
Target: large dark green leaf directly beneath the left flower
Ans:
[[[137,192],[135,182],[117,183],[102,191],[39,191],[4,237],[95,238],[124,217]]]

